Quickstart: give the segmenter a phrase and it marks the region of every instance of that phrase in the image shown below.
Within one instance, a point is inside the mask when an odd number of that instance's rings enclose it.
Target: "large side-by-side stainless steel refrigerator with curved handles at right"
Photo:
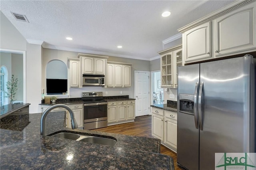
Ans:
[[[256,58],[178,67],[177,162],[214,170],[215,153],[256,152]]]

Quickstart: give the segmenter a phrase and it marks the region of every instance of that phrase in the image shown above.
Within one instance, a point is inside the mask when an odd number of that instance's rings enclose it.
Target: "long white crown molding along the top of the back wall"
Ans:
[[[108,53],[108,52],[102,52],[102,51],[93,51],[88,49],[80,49],[80,48],[69,48],[69,47],[63,47],[58,45],[48,45],[46,43],[42,44],[42,47],[49,48],[49,49],[58,49],[58,50],[64,50],[64,51],[73,51],[73,52],[79,52],[79,53],[90,53],[90,54],[98,54],[98,55],[106,55],[106,56],[112,56],[112,57],[123,57],[123,58],[130,58],[130,59],[140,59],[140,60],[147,60],[150,59],[142,58],[142,57],[134,57],[129,55],[116,55],[114,53]]]

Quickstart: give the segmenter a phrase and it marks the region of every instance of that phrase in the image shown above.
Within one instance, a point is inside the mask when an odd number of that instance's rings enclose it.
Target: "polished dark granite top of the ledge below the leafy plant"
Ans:
[[[14,103],[9,105],[4,105],[0,107],[0,119],[6,117],[7,115],[10,115],[11,113],[14,113],[23,107],[28,107],[30,103]]]

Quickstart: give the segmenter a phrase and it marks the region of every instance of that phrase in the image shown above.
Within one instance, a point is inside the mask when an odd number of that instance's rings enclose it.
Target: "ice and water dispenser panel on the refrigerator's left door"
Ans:
[[[179,101],[181,112],[194,114],[194,95],[179,94]]]

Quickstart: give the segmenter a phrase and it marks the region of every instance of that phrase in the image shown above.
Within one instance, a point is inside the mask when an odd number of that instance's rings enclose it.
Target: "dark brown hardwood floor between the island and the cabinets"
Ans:
[[[143,136],[153,138],[151,135],[151,115],[136,117],[132,123],[124,123],[120,125],[112,125],[105,128],[94,129],[95,131],[126,134],[131,136]],[[171,156],[174,161],[174,169],[181,170],[177,166],[177,156],[172,150],[161,144],[160,153]]]

